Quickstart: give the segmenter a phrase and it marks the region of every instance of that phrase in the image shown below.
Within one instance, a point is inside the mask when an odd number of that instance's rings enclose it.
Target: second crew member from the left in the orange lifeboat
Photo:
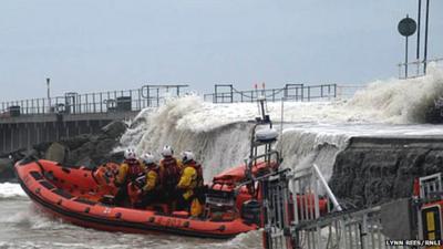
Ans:
[[[146,168],[144,186],[142,186],[141,201],[136,203],[136,208],[145,208],[150,204],[159,200],[162,194],[161,168],[154,162],[154,156],[146,153],[142,156],[142,162]]]

